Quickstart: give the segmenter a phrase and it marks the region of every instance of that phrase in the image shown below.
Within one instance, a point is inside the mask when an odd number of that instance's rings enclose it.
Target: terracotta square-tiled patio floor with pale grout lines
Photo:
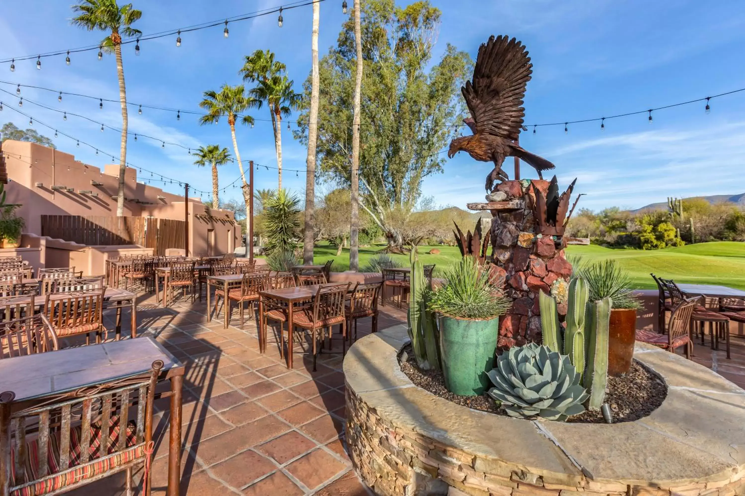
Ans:
[[[164,309],[149,294],[140,300],[139,333],[155,337],[187,367],[181,495],[372,494],[346,454],[340,353],[320,355],[315,373],[310,355],[297,353],[294,370],[288,370],[271,329],[262,355],[256,321],[247,320],[241,329],[237,311],[223,329],[222,313],[207,322],[204,302],[186,300]],[[405,309],[390,304],[380,309],[379,329],[406,320]],[[106,317],[107,328],[112,329],[112,312]],[[128,319],[127,314],[122,321]],[[370,324],[369,318],[359,321],[358,337],[370,332]],[[699,341],[694,361],[745,387],[745,340],[733,336],[732,360],[720,348],[714,352]],[[340,337],[335,335],[332,352],[340,351]],[[157,496],[165,495],[166,489],[167,413],[168,400],[156,402],[151,473]],[[142,471],[136,482],[141,478]],[[124,474],[69,494],[124,495]]]

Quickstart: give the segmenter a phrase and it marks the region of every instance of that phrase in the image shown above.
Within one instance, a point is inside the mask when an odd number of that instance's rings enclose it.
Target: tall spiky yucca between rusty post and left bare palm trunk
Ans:
[[[267,244],[267,255],[275,251],[294,252],[300,241],[300,199],[288,190],[276,190],[264,200],[264,223],[261,226]]]

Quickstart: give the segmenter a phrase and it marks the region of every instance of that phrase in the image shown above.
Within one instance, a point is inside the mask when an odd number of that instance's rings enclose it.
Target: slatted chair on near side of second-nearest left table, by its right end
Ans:
[[[85,335],[90,344],[90,333],[95,332],[96,344],[101,343],[104,328],[104,293],[106,288],[91,292],[64,294],[49,299],[44,314],[54,326],[58,338]]]

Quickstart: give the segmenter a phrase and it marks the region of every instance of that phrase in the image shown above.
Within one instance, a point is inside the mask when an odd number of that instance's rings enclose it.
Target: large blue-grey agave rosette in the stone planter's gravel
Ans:
[[[568,356],[529,343],[510,348],[497,360],[489,371],[495,386],[489,396],[502,402],[510,416],[564,421],[585,411],[582,403],[589,395]]]

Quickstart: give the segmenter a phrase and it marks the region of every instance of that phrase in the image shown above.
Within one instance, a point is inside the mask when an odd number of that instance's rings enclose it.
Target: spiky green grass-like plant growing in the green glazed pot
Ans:
[[[463,257],[442,274],[446,283],[433,292],[430,309],[446,317],[489,320],[504,315],[512,300],[495,292],[489,271],[473,257]]]

